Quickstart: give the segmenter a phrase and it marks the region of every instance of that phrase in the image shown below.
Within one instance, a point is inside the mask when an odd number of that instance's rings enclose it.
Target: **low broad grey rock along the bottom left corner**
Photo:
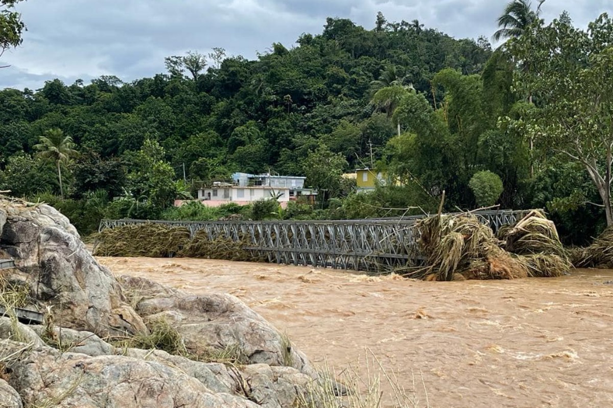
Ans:
[[[22,344],[0,341],[0,357]],[[162,363],[121,355],[89,357],[50,347],[25,352],[9,364],[9,384],[26,406],[58,408],[256,408],[246,398],[215,393]]]

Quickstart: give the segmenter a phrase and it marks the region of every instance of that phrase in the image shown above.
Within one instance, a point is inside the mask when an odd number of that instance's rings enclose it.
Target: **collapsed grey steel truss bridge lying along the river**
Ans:
[[[526,210],[473,212],[493,231],[513,224]],[[209,240],[242,241],[256,258],[287,265],[389,272],[418,260],[414,224],[421,216],[327,221],[150,221],[102,220],[99,231],[154,223],[183,227],[193,237],[205,230]],[[202,233],[200,233],[202,234]]]

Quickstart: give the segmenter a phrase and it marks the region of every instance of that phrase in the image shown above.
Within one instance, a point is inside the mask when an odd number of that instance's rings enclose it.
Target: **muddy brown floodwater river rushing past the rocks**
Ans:
[[[426,398],[436,408],[613,407],[612,270],[441,283],[249,262],[98,259],[115,275],[233,294],[316,366],[327,360],[339,371],[370,350],[415,390],[419,407]]]

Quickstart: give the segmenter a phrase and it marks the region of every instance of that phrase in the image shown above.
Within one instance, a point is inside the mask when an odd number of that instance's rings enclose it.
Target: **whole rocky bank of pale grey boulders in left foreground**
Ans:
[[[9,310],[45,313],[0,317],[3,407],[321,406],[307,357],[236,297],[117,280],[45,204],[0,199],[0,237]]]

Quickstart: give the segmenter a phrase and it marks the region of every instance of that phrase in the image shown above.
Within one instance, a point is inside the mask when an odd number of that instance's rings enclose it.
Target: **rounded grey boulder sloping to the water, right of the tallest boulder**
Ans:
[[[169,322],[192,354],[207,354],[211,347],[237,347],[249,364],[290,366],[318,377],[307,357],[283,333],[237,297],[192,295],[137,276],[119,280],[140,316]]]

